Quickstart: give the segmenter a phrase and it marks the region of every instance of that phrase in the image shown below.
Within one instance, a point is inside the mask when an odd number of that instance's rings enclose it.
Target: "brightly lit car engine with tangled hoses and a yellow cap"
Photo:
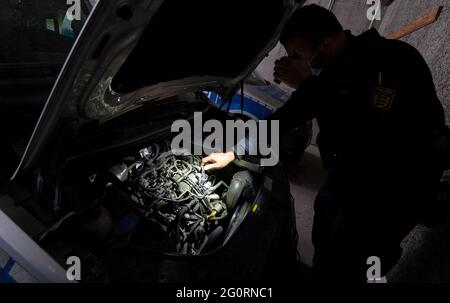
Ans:
[[[108,172],[116,180],[106,187],[127,197],[148,223],[151,247],[198,255],[223,234],[228,184],[207,174],[201,157],[174,153],[165,142],[141,149]]]

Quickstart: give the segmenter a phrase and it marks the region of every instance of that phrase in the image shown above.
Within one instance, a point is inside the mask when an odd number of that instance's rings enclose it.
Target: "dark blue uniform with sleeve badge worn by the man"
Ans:
[[[415,48],[375,30],[347,37],[339,58],[271,119],[282,135],[317,118],[329,175],[315,202],[315,273],[365,281],[368,257],[381,259],[383,274],[390,270],[401,240],[435,200],[442,169],[432,133],[445,118]]]

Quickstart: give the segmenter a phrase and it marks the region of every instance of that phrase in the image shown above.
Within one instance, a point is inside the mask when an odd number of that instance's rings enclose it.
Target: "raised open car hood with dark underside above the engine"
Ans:
[[[231,97],[276,45],[298,2],[100,0],[13,178],[36,164],[62,121],[101,123],[144,102],[188,92]]]

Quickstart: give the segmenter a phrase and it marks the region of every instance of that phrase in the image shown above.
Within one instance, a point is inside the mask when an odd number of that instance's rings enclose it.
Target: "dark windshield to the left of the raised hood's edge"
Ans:
[[[96,2],[0,2],[1,155],[20,156],[64,61]]]

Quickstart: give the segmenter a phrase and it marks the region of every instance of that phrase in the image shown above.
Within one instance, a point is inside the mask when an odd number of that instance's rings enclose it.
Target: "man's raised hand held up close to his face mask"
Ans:
[[[311,69],[308,62],[303,58],[283,57],[275,61],[273,76],[290,87],[297,89],[309,76]]]

